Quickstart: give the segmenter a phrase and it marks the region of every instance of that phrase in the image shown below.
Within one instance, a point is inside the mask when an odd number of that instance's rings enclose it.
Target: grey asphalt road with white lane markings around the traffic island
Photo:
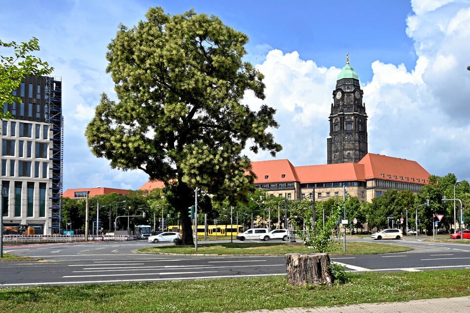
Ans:
[[[361,239],[370,240],[370,239]],[[424,271],[470,268],[470,245],[415,239],[376,241],[413,248],[405,253],[331,255],[347,271]],[[0,286],[120,283],[215,277],[285,275],[284,256],[140,254],[146,241],[47,243],[3,246],[33,260],[1,262]],[[202,243],[200,243],[202,244]],[[347,242],[346,242],[347,251]]]

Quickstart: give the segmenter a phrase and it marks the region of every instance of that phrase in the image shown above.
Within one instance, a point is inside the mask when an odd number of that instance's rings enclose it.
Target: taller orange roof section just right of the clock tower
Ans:
[[[379,178],[427,184],[430,175],[429,172],[416,161],[375,155],[372,153],[368,153],[363,157],[362,160],[359,161],[359,164],[364,164],[366,179]]]

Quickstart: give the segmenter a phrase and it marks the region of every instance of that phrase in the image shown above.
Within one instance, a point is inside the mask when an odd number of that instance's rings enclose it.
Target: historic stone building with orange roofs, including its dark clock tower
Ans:
[[[294,166],[288,159],[252,162],[255,186],[271,195],[315,200],[346,193],[372,201],[389,189],[418,193],[429,173],[416,161],[368,153],[367,114],[359,76],[349,65],[338,75],[331,104],[325,165]]]

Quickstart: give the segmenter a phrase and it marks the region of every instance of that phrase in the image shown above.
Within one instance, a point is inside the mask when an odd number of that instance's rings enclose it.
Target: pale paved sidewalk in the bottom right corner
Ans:
[[[310,313],[310,312],[344,312],[344,313],[416,313],[416,312],[470,312],[470,296],[460,298],[438,298],[413,300],[408,302],[363,303],[347,306],[317,308],[286,308],[280,310],[257,310],[249,313]],[[248,312],[247,312],[248,313]]]

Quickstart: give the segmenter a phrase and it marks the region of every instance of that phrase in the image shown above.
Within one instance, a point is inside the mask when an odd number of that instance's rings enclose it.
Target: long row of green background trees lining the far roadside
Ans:
[[[213,201],[211,196],[198,195],[198,224],[204,224],[207,217],[208,224],[239,224],[246,228],[252,227],[254,221],[263,224],[255,226],[269,225],[271,228],[285,227],[285,216],[288,223],[297,229],[304,229],[305,224],[309,225],[314,214],[317,225],[323,225],[328,217],[340,212],[338,218],[342,219],[344,211],[345,218],[352,223],[355,219],[357,223],[352,226],[359,232],[368,230],[384,229],[391,227],[404,227],[408,222],[410,228],[415,228],[415,214],[418,210],[418,227],[427,230],[432,234],[432,225],[435,215],[443,215],[439,223],[439,228],[452,229],[454,223],[454,201],[442,201],[455,197],[462,201],[464,216],[470,215],[470,185],[467,181],[458,182],[454,174],[444,177],[431,176],[430,183],[425,185],[417,195],[411,191],[389,190],[383,196],[372,199],[372,202],[360,202],[357,197],[347,196],[332,197],[325,201],[316,201],[315,208],[310,197],[301,200],[290,200],[283,197],[268,195],[263,190],[256,190],[248,195],[246,203],[240,202],[231,206],[228,201]],[[194,201],[194,194],[193,201]],[[429,200],[429,205],[425,204]],[[460,201],[456,200],[456,215],[459,221]],[[139,215],[129,219],[130,228],[134,225],[149,224],[155,229],[162,228],[160,219],[162,216],[166,220],[167,226],[180,225],[181,216],[179,211],[171,206],[167,200],[165,189],[156,189],[149,195],[143,196],[141,192],[130,192],[128,196],[118,194],[100,195],[89,198],[90,221],[96,220],[97,207],[99,205],[99,219],[101,227],[105,231],[115,230],[114,223],[117,216]],[[287,210],[286,210],[287,209]],[[145,217],[141,217],[145,212]],[[393,222],[387,218],[392,217]],[[404,219],[404,224],[400,224],[400,218]],[[70,223],[72,229],[85,228],[85,199],[63,199],[62,208],[63,225]],[[117,219],[117,230],[127,229],[128,219],[120,217]],[[366,224],[368,223],[368,224]],[[91,224],[90,224],[91,225]],[[64,227],[66,228],[66,227]]]

